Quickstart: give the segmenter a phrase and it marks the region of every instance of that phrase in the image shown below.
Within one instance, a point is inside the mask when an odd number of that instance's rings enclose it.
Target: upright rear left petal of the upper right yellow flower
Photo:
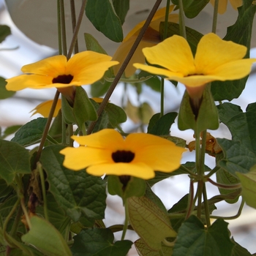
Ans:
[[[156,46],[144,48],[143,53],[150,64],[157,64],[184,76],[195,74],[192,51],[184,37],[168,37]]]

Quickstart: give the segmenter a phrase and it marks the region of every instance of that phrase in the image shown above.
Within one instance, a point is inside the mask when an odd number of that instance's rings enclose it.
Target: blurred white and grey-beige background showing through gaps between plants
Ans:
[[[80,3],[80,1],[77,1]],[[11,78],[12,76],[20,74],[20,67],[24,64],[29,64],[39,59],[56,54],[56,1],[53,0],[7,0],[9,11],[15,23],[12,22],[7,7],[3,0],[0,0],[0,24],[6,24],[11,27],[12,35],[0,45],[0,76],[4,78]],[[124,34],[127,34],[135,24],[141,20],[145,20],[151,7],[153,7],[154,0],[130,0],[130,10],[127,15],[127,21],[124,23]],[[165,5],[163,1],[162,7]],[[69,4],[66,1],[67,22],[70,21]],[[211,13],[213,8],[210,4],[200,13],[195,20],[187,20],[190,27],[199,30],[203,34],[211,31]],[[228,6],[227,14],[219,16],[217,34],[220,37],[225,36],[227,26],[232,25],[236,20],[237,12]],[[19,29],[18,29],[19,28]],[[70,29],[67,26],[67,29]],[[252,47],[256,47],[256,23],[254,26]],[[21,31],[23,32],[21,32]],[[90,33],[96,37],[103,48],[109,55],[113,55],[118,44],[105,39],[99,31],[96,31],[91,26],[89,20],[83,20],[83,26],[79,35],[79,45],[81,50],[85,50],[85,43],[83,42],[83,33]],[[25,33],[25,34],[23,34]],[[27,36],[27,37],[26,37]],[[32,41],[31,39],[34,41]],[[70,37],[70,36],[69,36]],[[48,46],[44,46],[48,45]],[[50,47],[49,47],[50,46]],[[55,49],[54,49],[55,48]],[[252,48],[251,57],[256,58],[256,48]],[[233,103],[240,105],[243,110],[246,106],[256,101],[255,83],[256,80],[256,66],[252,68],[252,75],[246,84],[246,89],[239,99],[233,100]],[[124,85],[119,84],[110,98],[111,102],[121,105],[120,95],[124,92]],[[84,87],[90,94],[89,86]],[[29,113],[40,102],[47,99],[52,99],[55,94],[55,89],[47,90],[31,90],[26,89],[18,91],[11,99],[4,99],[0,101],[0,127],[9,127],[15,124],[26,124],[32,118]],[[165,110],[166,112],[178,111],[178,105],[181,102],[181,97],[184,92],[184,86],[178,85],[175,88],[169,82],[165,86]],[[135,87],[128,87],[129,98],[134,105],[138,105]],[[143,87],[143,94],[140,97],[142,102],[147,101],[157,113],[159,112],[159,94]],[[123,128],[125,132],[131,132],[137,127],[132,121],[127,121]],[[171,129],[172,135],[179,136],[187,140],[189,143],[192,138],[192,131],[180,132],[176,124],[173,124]],[[230,132],[226,127],[221,126],[217,131],[212,131],[212,135],[219,138],[230,138]],[[184,154],[183,162],[195,161],[194,153],[187,152]],[[214,166],[214,158],[207,157],[206,164],[209,167]],[[159,195],[167,209],[171,208],[181,197],[186,195],[189,191],[189,178],[187,176],[178,176],[159,182],[154,187],[154,192]],[[211,184],[207,184],[208,197],[217,195],[217,189]],[[107,226],[116,224],[117,220],[122,223],[123,208],[121,200],[118,197],[108,197],[108,210],[106,213]],[[214,215],[233,216],[237,213],[239,203],[228,205],[226,203],[218,203],[217,211]],[[246,247],[249,252],[256,252],[255,238],[256,238],[256,212],[254,209],[246,206],[244,211],[238,219],[228,221],[229,228],[238,244]],[[132,233],[128,233],[130,238],[136,239]],[[127,237],[128,238],[128,237]],[[137,255],[135,251],[130,252],[129,255]]]

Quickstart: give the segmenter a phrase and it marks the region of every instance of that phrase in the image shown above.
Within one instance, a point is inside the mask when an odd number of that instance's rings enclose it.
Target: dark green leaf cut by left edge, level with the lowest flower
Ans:
[[[17,143],[0,140],[0,176],[7,184],[18,173],[31,173],[29,151]]]

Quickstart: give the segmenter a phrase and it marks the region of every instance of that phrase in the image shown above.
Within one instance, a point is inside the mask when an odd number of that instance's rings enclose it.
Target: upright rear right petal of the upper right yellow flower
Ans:
[[[206,34],[197,45],[196,74],[211,74],[212,70],[223,64],[244,58],[246,51],[244,45],[222,40],[214,33]]]

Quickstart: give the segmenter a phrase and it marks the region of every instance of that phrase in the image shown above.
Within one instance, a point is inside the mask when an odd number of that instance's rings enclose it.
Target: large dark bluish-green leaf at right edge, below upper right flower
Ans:
[[[224,170],[236,175],[248,173],[256,164],[256,103],[249,104],[246,112],[231,103],[218,106],[219,119],[227,125],[233,140],[218,139],[224,157],[218,165]]]

